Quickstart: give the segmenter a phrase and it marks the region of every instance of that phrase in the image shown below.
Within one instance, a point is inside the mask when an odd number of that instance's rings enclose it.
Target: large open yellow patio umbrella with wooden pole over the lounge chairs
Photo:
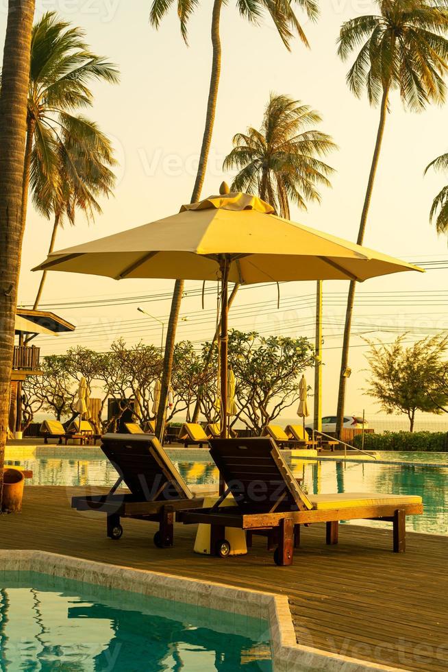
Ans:
[[[421,270],[322,231],[294,224],[245,193],[182,206],[158,219],[96,241],[51,252],[34,270],[123,278],[221,282],[221,408],[227,416],[227,286],[287,280],[358,280]],[[225,421],[221,431],[225,436]]]

